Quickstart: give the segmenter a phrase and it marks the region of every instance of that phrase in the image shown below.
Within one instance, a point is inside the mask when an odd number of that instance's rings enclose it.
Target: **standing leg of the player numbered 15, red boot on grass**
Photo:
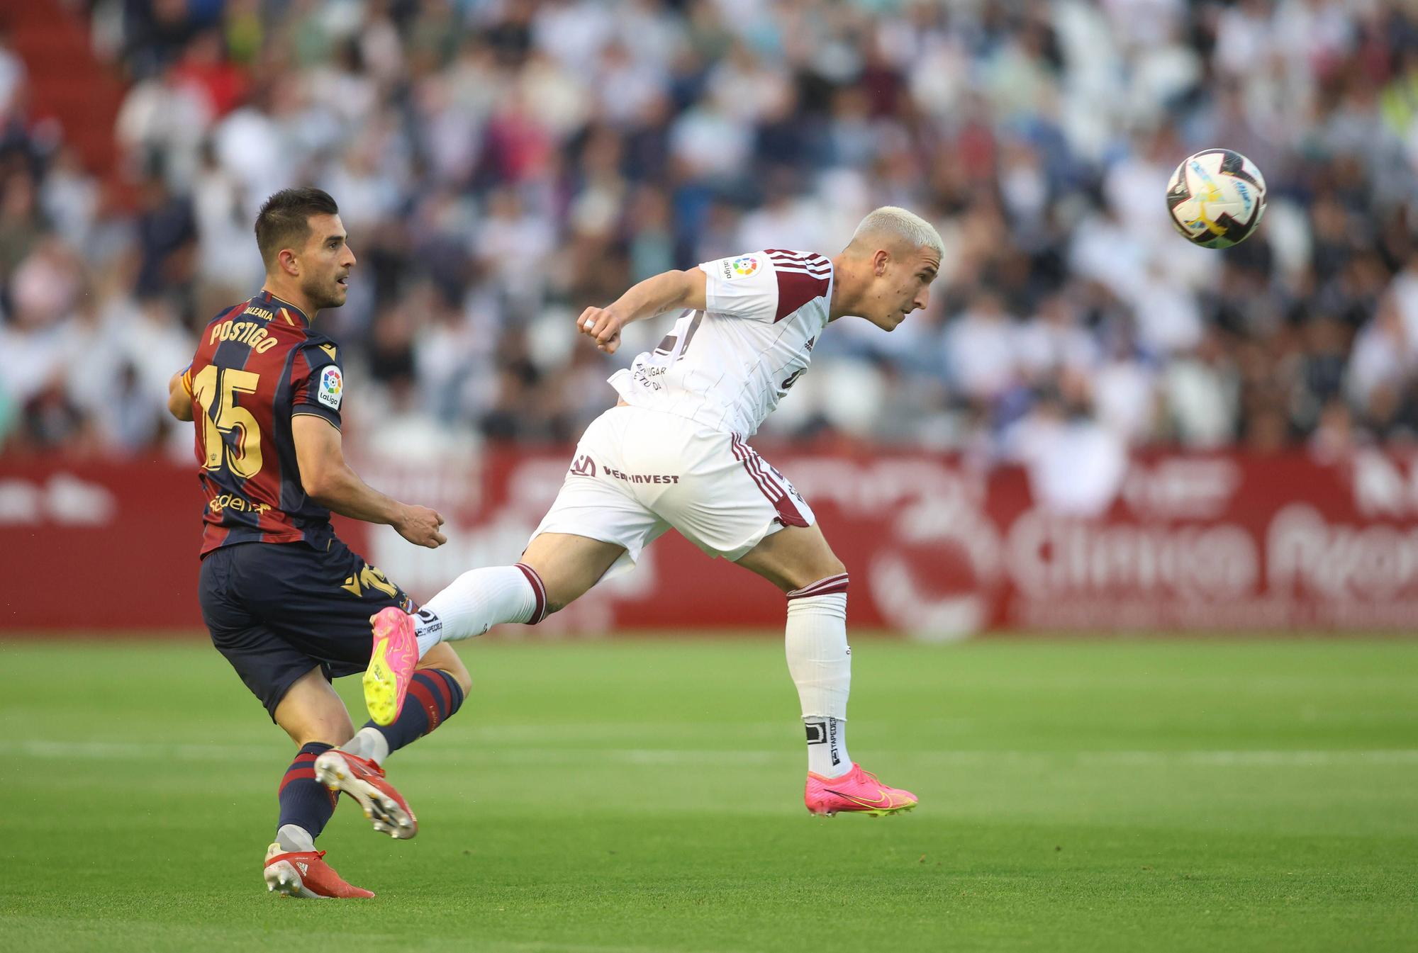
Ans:
[[[315,760],[354,733],[345,703],[315,668],[301,676],[277,705],[277,723],[299,745],[277,796],[281,817],[275,842],[267,848],[267,889],[286,896],[370,898],[370,891],[346,884],[315,849],[315,838],[335,813],[336,794],[315,779]]]

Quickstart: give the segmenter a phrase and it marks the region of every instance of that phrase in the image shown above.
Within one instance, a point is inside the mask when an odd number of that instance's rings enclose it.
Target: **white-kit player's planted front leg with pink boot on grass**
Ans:
[[[737,560],[788,600],[786,651],[807,732],[808,811],[893,814],[916,806],[910,791],[881,784],[847,753],[852,650],[847,644],[847,567],[818,526],[784,526]]]

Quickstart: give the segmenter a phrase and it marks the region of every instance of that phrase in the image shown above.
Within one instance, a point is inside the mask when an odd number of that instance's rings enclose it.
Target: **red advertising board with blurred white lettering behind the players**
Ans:
[[[852,576],[849,618],[922,638],[1025,631],[1407,631],[1418,618],[1418,467],[1366,451],[1132,461],[1099,518],[1051,513],[1017,468],[920,452],[766,455],[811,502]],[[438,508],[450,543],[389,528],[342,535],[427,598],[474,566],[513,562],[570,452],[360,472]],[[200,627],[191,469],[167,462],[0,465],[0,632]],[[540,634],[776,628],[767,583],[669,533],[634,573]],[[510,632],[532,632],[512,627]]]

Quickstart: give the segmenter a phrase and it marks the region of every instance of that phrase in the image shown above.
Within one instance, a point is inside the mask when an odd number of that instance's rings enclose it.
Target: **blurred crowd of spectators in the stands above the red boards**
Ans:
[[[0,43],[0,452],[190,452],[167,377],[259,286],[261,201],[306,183],[359,257],[320,322],[366,445],[574,440],[662,333],[607,359],[581,308],[743,251],[835,254],[881,204],[944,237],[930,306],[834,325],[766,433],[1105,471],[1418,434],[1418,16],[1397,0],[84,11],[128,87],[119,170],[37,135]],[[1163,200],[1210,146],[1269,186],[1222,252]]]

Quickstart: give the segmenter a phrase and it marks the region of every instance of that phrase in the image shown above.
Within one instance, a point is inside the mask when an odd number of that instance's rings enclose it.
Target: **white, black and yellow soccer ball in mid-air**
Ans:
[[[1167,213],[1194,245],[1229,248],[1261,224],[1265,179],[1239,152],[1202,149],[1171,173]]]

